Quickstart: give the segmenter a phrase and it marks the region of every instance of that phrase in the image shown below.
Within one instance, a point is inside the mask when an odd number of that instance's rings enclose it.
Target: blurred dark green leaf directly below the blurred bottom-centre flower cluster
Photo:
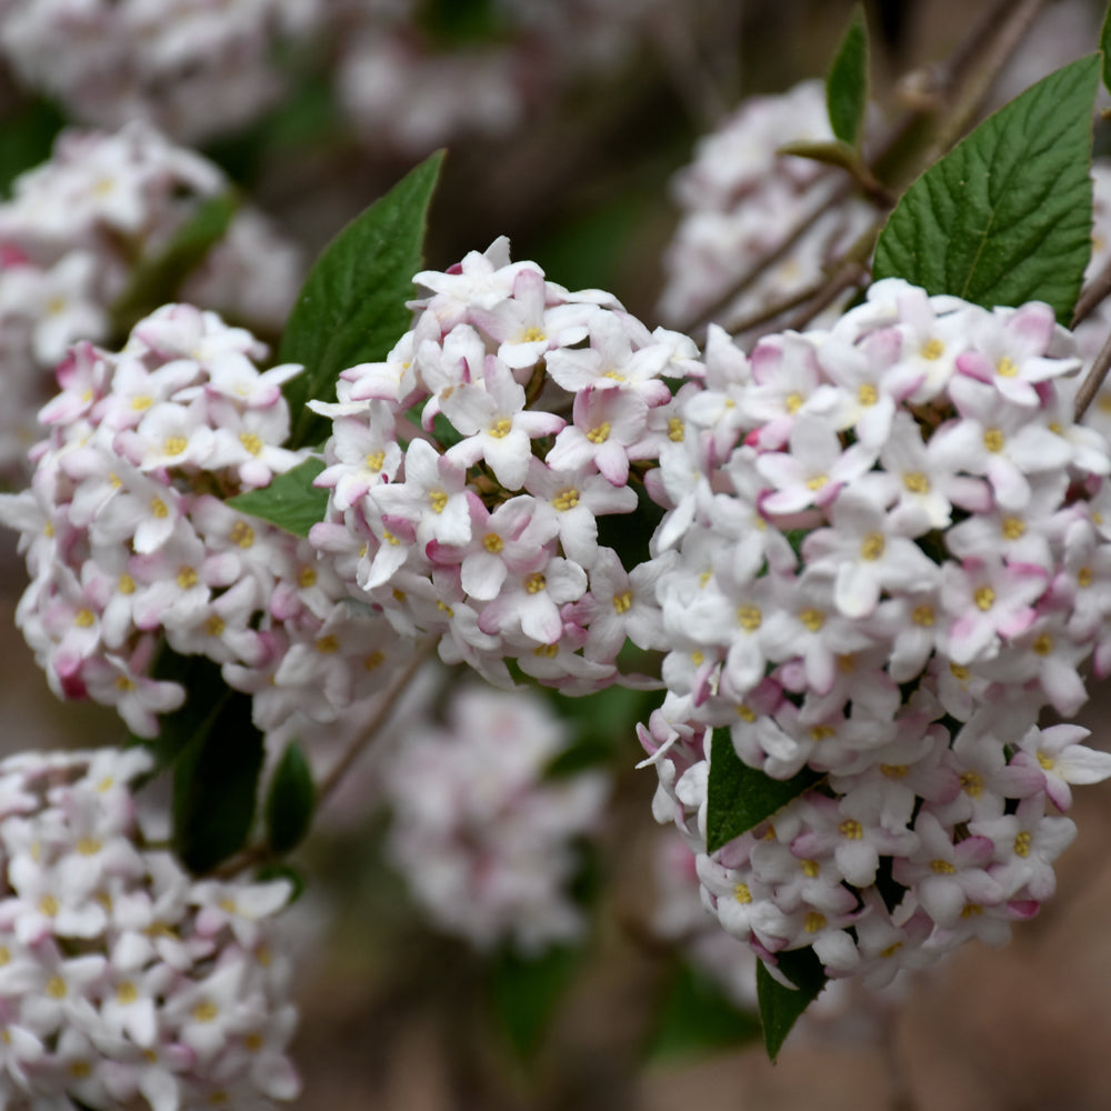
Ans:
[[[491,970],[490,999],[498,1025],[522,1060],[540,1048],[556,1008],[582,959],[582,950],[568,945],[524,958],[502,952]]]

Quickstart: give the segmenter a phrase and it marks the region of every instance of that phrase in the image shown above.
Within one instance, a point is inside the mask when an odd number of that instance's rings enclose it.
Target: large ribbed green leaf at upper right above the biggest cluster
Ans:
[[[1037,299],[1067,323],[1091,253],[1098,54],[1001,108],[915,181],[875,248],[873,276],[977,304]]]

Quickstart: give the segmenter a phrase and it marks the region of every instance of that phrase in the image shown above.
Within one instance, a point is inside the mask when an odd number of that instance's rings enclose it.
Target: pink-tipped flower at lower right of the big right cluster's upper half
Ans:
[[[1048,574],[1037,564],[1005,564],[999,556],[945,563],[941,605],[948,630],[943,651],[959,664],[993,659],[1002,644],[1033,624],[1033,603],[1045,592]]]

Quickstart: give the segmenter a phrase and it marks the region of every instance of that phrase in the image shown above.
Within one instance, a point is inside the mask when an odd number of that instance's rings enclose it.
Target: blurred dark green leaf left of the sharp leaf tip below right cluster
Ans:
[[[704,973],[680,964],[648,1045],[651,1060],[669,1060],[742,1045],[760,1037],[760,1020],[738,1008]]]

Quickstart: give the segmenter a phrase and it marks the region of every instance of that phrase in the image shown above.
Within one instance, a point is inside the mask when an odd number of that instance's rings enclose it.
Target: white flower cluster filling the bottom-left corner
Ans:
[[[191,879],[143,847],[142,749],[0,763],[0,1105],[269,1107],[300,1084],[286,880]]]

